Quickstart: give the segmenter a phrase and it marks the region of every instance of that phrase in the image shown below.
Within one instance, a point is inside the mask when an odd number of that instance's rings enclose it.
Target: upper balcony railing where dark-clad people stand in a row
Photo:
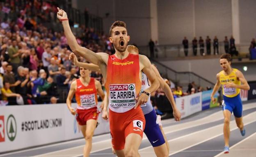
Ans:
[[[239,53],[249,53],[249,43],[236,44],[236,49]],[[149,46],[138,46],[139,51],[150,56]],[[192,52],[192,44],[188,48],[188,56],[194,56]],[[213,55],[213,43],[211,43],[211,55]],[[204,53],[206,53],[206,44],[204,46]],[[219,42],[219,54],[224,54],[224,42]],[[197,56],[200,55],[200,47],[197,45]],[[184,49],[182,44],[169,44],[169,45],[158,45],[154,48],[154,56],[158,58],[173,58],[173,57],[185,57]]]

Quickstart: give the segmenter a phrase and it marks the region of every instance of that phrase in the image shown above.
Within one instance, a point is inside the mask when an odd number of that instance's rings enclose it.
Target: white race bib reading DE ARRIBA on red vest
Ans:
[[[111,84],[110,106],[133,107],[135,106],[135,84]]]

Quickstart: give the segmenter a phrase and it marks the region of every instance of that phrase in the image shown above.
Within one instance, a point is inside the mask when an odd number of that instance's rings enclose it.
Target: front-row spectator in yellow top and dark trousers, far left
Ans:
[[[21,97],[20,94],[13,93],[10,90],[10,83],[5,82],[4,88],[1,88],[2,100],[7,101],[8,105],[16,105],[16,97]]]

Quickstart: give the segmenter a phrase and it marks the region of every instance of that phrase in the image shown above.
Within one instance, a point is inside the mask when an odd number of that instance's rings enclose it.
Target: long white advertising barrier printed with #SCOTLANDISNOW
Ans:
[[[75,104],[72,106],[75,108]],[[98,122],[94,135],[108,133],[109,123],[101,114]],[[81,137],[75,116],[66,104],[1,106],[0,153]]]

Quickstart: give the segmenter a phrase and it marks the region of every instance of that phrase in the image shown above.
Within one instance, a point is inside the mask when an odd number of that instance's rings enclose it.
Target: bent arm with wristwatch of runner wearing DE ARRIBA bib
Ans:
[[[153,73],[151,62],[149,61],[149,59],[145,55],[139,55],[139,62],[142,64],[142,71],[148,77],[149,81],[151,82],[151,86],[144,90],[145,93],[142,93],[141,95],[139,95],[139,97],[135,98],[135,100],[137,100],[135,109],[137,108],[138,105],[146,103],[149,100],[148,94],[156,91],[159,87],[159,81],[155,73]]]

